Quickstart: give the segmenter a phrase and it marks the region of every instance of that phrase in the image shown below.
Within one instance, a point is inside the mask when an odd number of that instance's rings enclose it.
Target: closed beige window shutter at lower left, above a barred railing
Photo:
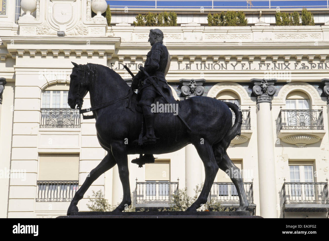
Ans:
[[[40,154],[38,180],[79,180],[79,154]]]

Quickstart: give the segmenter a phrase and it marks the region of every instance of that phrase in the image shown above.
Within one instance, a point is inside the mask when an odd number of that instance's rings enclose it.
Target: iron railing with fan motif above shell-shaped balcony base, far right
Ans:
[[[323,130],[323,111],[312,109],[280,110],[280,130]]]

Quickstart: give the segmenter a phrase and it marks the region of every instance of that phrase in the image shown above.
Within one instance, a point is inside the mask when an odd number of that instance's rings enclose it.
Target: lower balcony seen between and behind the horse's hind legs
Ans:
[[[249,202],[247,211],[255,215],[256,204],[254,204],[253,182],[243,182],[243,187]],[[239,207],[238,192],[232,182],[214,182],[209,195],[212,202],[220,202],[223,207],[235,209]]]

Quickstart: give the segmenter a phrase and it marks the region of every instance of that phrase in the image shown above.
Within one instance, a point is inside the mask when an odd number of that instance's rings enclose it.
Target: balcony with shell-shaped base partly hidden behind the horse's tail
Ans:
[[[235,114],[233,110],[231,110],[231,112],[232,112],[232,123],[234,124]],[[250,109],[241,110],[241,112],[242,112],[241,135],[240,136],[237,135],[236,137],[234,137],[234,139],[231,141],[230,147],[247,142],[252,134],[251,125],[250,125]]]

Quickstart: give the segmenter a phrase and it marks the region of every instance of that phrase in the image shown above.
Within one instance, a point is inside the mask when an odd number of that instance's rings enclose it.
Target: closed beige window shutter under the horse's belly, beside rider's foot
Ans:
[[[155,160],[145,164],[145,181],[169,181],[170,161]]]

